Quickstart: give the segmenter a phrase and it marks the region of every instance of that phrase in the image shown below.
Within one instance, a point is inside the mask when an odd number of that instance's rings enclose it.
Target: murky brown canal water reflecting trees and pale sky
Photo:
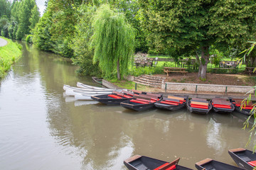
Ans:
[[[0,169],[126,169],[134,154],[196,169],[201,159],[233,164],[228,149],[245,147],[240,113],[128,111],[75,101],[63,84],[80,81],[68,60],[23,45],[23,57],[0,82]],[[251,143],[247,149],[252,149]]]

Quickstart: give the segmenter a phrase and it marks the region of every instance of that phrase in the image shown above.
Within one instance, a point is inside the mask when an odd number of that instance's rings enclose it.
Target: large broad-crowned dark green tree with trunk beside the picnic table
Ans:
[[[194,54],[206,79],[209,47],[239,45],[255,35],[255,1],[139,0],[151,48]]]

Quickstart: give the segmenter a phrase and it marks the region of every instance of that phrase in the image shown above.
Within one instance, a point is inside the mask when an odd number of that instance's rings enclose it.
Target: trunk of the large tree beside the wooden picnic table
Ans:
[[[201,52],[201,61],[200,61],[200,66],[199,66],[199,71],[198,71],[198,77],[200,79],[206,80],[206,71],[207,71],[207,64],[209,62],[209,47],[202,47],[202,52]]]

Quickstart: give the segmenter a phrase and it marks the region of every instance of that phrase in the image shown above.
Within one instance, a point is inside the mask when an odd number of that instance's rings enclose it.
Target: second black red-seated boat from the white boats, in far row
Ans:
[[[154,96],[149,95],[149,93],[134,95],[134,99],[129,99],[120,103],[120,106],[133,110],[133,111],[146,111],[154,108],[154,103],[161,100],[160,94],[154,94]]]

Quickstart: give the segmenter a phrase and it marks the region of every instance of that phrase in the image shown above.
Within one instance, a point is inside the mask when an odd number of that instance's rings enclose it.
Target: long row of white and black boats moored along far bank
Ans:
[[[63,89],[67,96],[75,96],[76,100],[95,100],[106,105],[120,105],[134,111],[146,111],[151,108],[159,108],[176,111],[187,107],[191,113],[207,114],[210,110],[218,113],[231,113],[238,111],[246,115],[256,103],[242,102],[242,98],[188,98],[188,96],[168,96],[152,94],[149,92],[132,90],[106,89],[89,86],[78,82],[78,87],[64,85]]]

